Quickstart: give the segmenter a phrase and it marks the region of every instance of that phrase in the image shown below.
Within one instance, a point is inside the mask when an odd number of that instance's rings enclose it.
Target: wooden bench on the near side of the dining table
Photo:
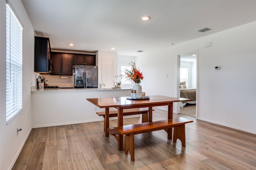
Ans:
[[[124,125],[115,127],[116,131],[121,135],[125,135],[124,153],[131,155],[131,160],[134,161],[134,135],[164,129],[168,133],[168,139],[172,139],[172,127],[174,127],[173,142],[180,139],[182,146],[186,147],[185,139],[185,124],[193,122],[192,120],[179,117],[176,119],[167,119],[160,121],[152,121],[135,125]]]

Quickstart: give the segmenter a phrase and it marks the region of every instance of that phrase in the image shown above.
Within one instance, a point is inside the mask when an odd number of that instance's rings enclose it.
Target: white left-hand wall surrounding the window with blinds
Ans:
[[[0,169],[12,168],[32,127],[30,86],[34,80],[34,29],[20,0],[10,0],[24,25],[22,113],[6,125],[6,3],[0,1]],[[35,85],[35,84],[34,84]],[[17,127],[22,131],[17,133]]]

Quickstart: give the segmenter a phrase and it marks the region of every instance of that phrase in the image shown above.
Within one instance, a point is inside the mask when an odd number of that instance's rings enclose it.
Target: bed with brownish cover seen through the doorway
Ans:
[[[190,99],[188,102],[180,102],[180,107],[183,108],[186,104],[196,104],[196,89],[187,88],[186,82],[180,82],[180,98]]]

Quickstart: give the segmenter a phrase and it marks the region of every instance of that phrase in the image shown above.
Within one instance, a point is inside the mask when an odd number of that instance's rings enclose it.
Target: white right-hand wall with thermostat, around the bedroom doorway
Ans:
[[[177,96],[177,56],[198,51],[198,119],[256,133],[255,29],[256,21],[138,56],[144,91]]]

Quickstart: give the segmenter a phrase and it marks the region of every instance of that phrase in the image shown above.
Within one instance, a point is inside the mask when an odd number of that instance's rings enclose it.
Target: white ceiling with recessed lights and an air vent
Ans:
[[[22,0],[52,49],[136,56],[256,21],[254,0]],[[142,21],[142,16],[151,17]],[[208,27],[201,33],[196,30]],[[235,36],[235,35],[234,35]],[[74,43],[73,47],[68,43]]]

